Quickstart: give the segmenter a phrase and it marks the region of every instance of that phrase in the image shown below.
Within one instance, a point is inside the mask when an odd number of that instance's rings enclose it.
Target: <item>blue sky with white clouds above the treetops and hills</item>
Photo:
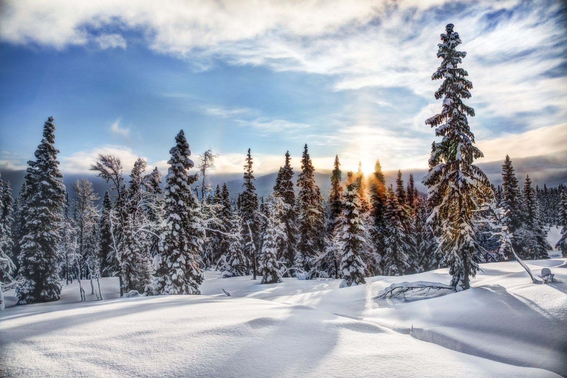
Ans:
[[[567,159],[564,1],[52,0],[0,3],[0,169],[55,118],[64,173],[99,153],[167,170],[180,129],[221,173],[427,168],[431,81],[455,25],[485,157]],[[545,167],[541,167],[545,169]]]

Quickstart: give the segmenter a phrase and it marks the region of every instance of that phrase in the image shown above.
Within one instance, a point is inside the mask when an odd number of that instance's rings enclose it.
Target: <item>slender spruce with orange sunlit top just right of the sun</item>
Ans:
[[[386,178],[382,173],[382,165],[376,159],[374,175],[370,181],[370,242],[374,253],[379,257],[379,265],[374,267],[374,274],[382,274],[384,250],[386,249],[386,235],[389,220],[386,219],[387,201]]]

